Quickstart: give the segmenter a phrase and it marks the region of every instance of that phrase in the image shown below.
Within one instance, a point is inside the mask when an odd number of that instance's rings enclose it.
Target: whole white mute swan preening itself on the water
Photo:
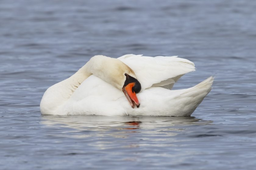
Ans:
[[[190,116],[214,80],[211,76],[194,87],[171,90],[191,71],[194,63],[177,56],[94,56],[71,77],[49,87],[40,110],[52,115]]]

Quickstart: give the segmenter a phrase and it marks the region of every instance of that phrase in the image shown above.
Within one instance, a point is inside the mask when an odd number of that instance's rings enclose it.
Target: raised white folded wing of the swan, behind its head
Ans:
[[[118,58],[128,65],[141,83],[141,90],[151,86],[171,89],[181,76],[195,71],[193,62],[177,56],[148,57],[127,54]]]

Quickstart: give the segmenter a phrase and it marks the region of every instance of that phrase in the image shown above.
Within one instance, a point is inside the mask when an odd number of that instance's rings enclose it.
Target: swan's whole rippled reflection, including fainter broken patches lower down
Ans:
[[[50,129],[48,135],[93,140],[89,142],[90,146],[101,149],[113,147],[113,141],[128,148],[140,147],[145,144],[144,140],[147,140],[147,145],[155,146],[157,143],[158,146],[164,146],[166,142],[163,141],[177,141],[177,138],[170,137],[187,131],[187,126],[210,123],[212,121],[203,121],[195,117],[98,115],[43,115],[40,122],[44,128]]]

